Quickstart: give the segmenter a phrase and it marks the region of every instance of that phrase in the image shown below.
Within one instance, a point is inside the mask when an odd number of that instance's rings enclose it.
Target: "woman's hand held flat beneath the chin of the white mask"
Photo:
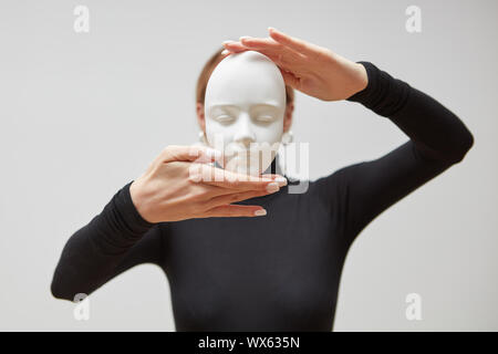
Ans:
[[[279,175],[240,175],[208,165],[220,152],[204,146],[166,147],[129,186],[133,204],[148,222],[266,215],[260,206],[231,205],[287,185]]]

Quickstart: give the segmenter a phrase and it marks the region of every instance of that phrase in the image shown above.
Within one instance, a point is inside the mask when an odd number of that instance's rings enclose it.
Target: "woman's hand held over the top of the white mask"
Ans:
[[[270,38],[224,42],[225,55],[247,50],[270,58],[287,85],[323,101],[345,100],[367,85],[366,70],[332,51],[269,28]]]

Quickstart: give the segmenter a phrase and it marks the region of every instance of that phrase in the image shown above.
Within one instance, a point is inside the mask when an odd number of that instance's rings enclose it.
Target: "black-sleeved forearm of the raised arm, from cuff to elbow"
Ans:
[[[460,162],[474,144],[465,124],[448,108],[429,95],[394,79],[370,62],[366,88],[349,97],[376,114],[388,117],[414,143],[422,157]]]

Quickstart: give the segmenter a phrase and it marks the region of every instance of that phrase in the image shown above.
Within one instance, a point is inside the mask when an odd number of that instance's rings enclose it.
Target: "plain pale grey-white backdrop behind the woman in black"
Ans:
[[[73,10],[90,9],[90,33]],[[405,9],[422,9],[422,33]],[[498,330],[496,1],[0,2],[0,330],[174,331],[166,277],[138,266],[97,290],[90,321],[50,282],[68,238],[168,144],[197,139],[195,83],[228,39],[267,27],[366,60],[434,96],[475,137],[463,163],[375,219],[341,281],[335,331]],[[298,94],[310,177],[407,137],[359,104]],[[208,237],[208,235],[206,235]],[[405,296],[423,299],[407,321]]]

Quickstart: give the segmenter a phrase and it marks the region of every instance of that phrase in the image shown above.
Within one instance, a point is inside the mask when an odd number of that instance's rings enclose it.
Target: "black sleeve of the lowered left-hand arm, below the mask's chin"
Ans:
[[[72,301],[136,264],[160,263],[160,226],[136,211],[129,185],[66,242],[51,284],[55,298]]]

